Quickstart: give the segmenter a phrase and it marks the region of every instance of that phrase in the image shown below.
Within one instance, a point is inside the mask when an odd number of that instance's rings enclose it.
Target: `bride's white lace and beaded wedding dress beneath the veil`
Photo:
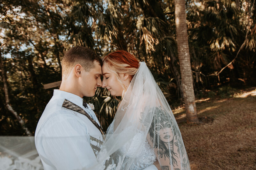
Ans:
[[[109,125],[107,134],[113,134],[115,120]],[[127,133],[129,133],[130,129],[125,129]],[[145,139],[145,138],[144,138]],[[147,140],[143,140],[142,133],[138,132],[133,138],[131,142],[127,142],[126,145],[130,145],[128,151],[126,152],[124,163],[121,169],[126,169],[124,165],[126,164],[126,160],[133,159],[134,162],[130,166],[130,170],[143,170],[146,167],[152,165],[156,161],[156,155],[153,149],[150,147]],[[125,147],[125,146],[124,146]],[[124,148],[123,147],[123,148]],[[124,155],[125,149],[120,149],[119,153]],[[139,154],[138,154],[139,153]],[[116,159],[116,158],[114,158]]]

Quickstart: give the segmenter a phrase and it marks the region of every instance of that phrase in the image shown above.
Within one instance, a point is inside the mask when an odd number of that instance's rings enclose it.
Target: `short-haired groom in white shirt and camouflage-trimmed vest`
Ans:
[[[102,60],[89,48],[73,47],[62,59],[62,82],[37,124],[36,149],[45,170],[90,169],[103,143],[103,130],[83,97],[101,86]]]

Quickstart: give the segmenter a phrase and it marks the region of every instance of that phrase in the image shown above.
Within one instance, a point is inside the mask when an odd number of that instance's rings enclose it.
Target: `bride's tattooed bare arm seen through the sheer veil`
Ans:
[[[154,108],[154,118],[148,131],[147,140],[154,148],[156,158],[163,170],[186,169],[184,164],[181,164],[181,160],[187,158],[187,155],[184,154],[185,148],[181,142],[182,139],[170,116],[161,108]]]

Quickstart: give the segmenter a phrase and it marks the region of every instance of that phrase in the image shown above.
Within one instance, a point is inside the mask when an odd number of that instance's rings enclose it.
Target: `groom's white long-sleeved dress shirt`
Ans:
[[[100,125],[92,109],[84,108],[81,97],[54,90],[36,127],[37,152],[45,170],[90,169],[97,154],[91,144],[100,148],[96,141],[103,141],[102,135],[85,115],[62,107],[65,99],[82,107]]]

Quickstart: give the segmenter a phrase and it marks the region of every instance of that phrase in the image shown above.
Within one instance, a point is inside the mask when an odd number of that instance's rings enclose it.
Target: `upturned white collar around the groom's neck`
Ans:
[[[53,96],[67,99],[67,100],[71,101],[72,103],[75,103],[77,106],[83,108],[83,99],[81,97],[77,96],[76,94],[61,91],[58,89],[54,89]]]

